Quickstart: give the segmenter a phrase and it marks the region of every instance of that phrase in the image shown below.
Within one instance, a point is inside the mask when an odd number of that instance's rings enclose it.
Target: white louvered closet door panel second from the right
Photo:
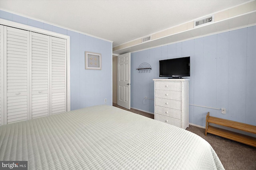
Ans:
[[[31,118],[50,115],[50,36],[30,33]]]

